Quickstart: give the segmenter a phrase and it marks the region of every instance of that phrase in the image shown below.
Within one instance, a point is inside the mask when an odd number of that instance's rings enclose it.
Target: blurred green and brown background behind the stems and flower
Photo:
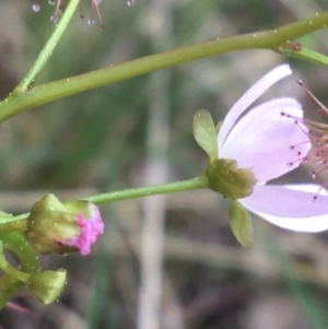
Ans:
[[[42,10],[35,13],[33,3],[36,0],[0,2],[1,99],[22,79],[55,27],[54,5],[38,2]],[[75,14],[39,82],[186,44],[272,28],[327,10],[328,4],[324,0],[136,0],[128,5],[125,0],[103,0],[105,30],[90,8],[90,1],[81,1],[84,20]],[[96,24],[90,26],[92,15]],[[327,54],[327,37],[323,31],[300,42]],[[192,137],[195,111],[206,108],[215,121],[222,120],[243,92],[282,62],[290,62],[295,74],[261,99],[295,96],[307,117],[325,121],[296,80],[302,78],[328,104],[328,69],[251,50],[104,86],[2,124],[1,210],[28,211],[46,191],[66,199],[201,174],[207,156]],[[308,173],[304,167],[280,181],[311,181]],[[227,209],[227,201],[207,191],[102,207],[107,228],[92,256],[42,259],[45,269],[68,269],[60,301],[44,306],[26,291],[13,301],[15,306],[0,313],[0,325],[5,329],[328,328],[327,234],[295,234],[255,218],[255,246],[245,250],[232,236]],[[148,297],[140,286],[148,286]],[[152,293],[159,305],[152,304]],[[154,322],[147,325],[144,319],[152,314]]]

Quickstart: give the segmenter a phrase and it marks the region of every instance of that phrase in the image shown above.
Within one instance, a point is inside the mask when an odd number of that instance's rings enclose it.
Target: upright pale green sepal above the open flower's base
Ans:
[[[194,116],[194,137],[199,146],[204,150],[210,161],[219,156],[216,129],[211,115],[199,109]]]

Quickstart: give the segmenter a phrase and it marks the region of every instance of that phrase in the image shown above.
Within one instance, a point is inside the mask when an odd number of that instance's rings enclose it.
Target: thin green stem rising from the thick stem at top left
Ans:
[[[36,81],[37,77],[40,74],[43,68],[49,60],[50,56],[55,47],[57,46],[58,42],[60,40],[62,34],[65,33],[66,28],[68,27],[69,22],[73,13],[75,12],[80,0],[71,0],[66,8],[62,17],[60,19],[59,23],[56,25],[55,32],[46,43],[43,50],[39,52],[37,59],[31,67],[27,74],[24,79],[20,82],[20,84],[14,89],[13,93],[22,93],[30,89]]]

